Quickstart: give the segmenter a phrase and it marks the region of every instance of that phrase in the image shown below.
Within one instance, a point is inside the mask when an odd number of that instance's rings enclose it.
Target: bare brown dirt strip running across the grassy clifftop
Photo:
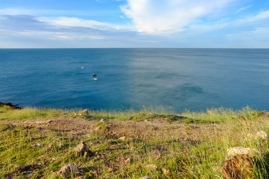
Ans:
[[[218,124],[185,124],[180,121],[169,121],[166,118],[151,120],[107,121],[106,130],[96,126],[99,120],[88,120],[82,117],[58,115],[56,117],[39,118],[26,121],[5,121],[2,124],[23,126],[26,128],[42,128],[72,133],[100,132],[107,137],[126,137],[130,139],[183,139],[194,140],[199,135],[211,135],[212,130],[220,130]],[[102,130],[102,131],[101,131]]]

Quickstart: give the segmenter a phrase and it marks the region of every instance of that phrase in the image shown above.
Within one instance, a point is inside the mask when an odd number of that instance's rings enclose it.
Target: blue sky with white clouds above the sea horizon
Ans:
[[[0,0],[0,48],[269,48],[269,0]]]

